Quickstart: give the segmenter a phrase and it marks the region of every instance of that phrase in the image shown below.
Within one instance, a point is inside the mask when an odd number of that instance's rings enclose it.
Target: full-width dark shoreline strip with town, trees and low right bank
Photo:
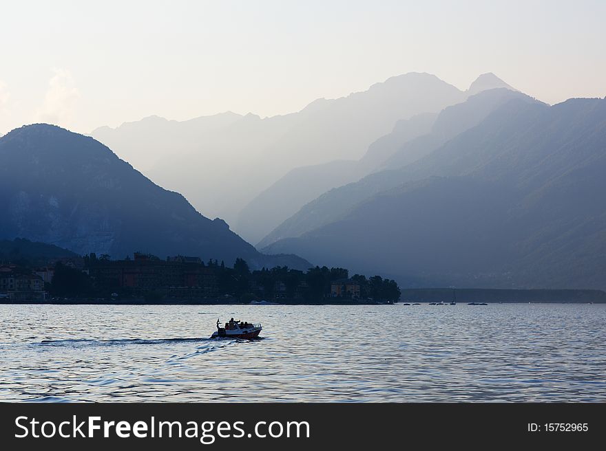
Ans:
[[[600,289],[399,287],[339,267],[251,270],[199,257],[79,256],[26,239],[0,241],[0,303],[53,304],[390,304],[606,303]]]

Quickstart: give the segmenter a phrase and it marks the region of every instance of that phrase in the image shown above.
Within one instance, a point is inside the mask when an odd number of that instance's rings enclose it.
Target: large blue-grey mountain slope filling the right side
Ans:
[[[401,172],[430,170],[266,250],[416,286],[606,287],[606,100],[513,100]]]

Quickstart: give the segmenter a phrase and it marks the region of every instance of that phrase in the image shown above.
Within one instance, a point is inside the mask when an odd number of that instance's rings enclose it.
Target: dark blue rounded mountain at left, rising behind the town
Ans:
[[[0,139],[0,158],[6,212],[0,238],[118,258],[142,251],[309,267],[296,256],[260,254],[227,223],[203,217],[185,197],[152,183],[92,137],[46,124],[23,126]]]

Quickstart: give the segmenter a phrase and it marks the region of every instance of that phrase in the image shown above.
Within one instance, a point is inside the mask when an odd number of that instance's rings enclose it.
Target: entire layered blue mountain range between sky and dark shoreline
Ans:
[[[0,137],[0,239],[347,267],[407,287],[606,288],[606,99],[393,77],[273,118]],[[202,216],[224,213],[224,219]],[[310,263],[312,262],[312,263]]]

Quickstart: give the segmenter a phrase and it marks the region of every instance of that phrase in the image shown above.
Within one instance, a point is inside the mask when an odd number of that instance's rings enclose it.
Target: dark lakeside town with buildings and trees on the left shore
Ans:
[[[344,268],[289,267],[251,270],[243,259],[233,267],[199,257],[136,252],[64,257],[43,266],[0,263],[0,302],[61,303],[394,303],[395,281]]]

